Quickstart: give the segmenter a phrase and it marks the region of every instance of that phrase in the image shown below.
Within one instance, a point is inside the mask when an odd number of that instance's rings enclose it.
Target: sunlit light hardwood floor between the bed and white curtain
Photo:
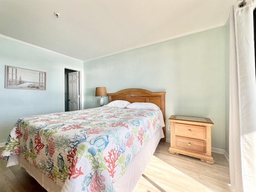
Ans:
[[[232,192],[229,164],[223,154],[212,153],[214,164],[170,154],[170,143],[160,142],[135,192]]]

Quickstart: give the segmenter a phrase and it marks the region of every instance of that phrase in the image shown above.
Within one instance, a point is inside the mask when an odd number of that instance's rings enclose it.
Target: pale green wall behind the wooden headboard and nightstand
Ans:
[[[97,86],[106,86],[108,93],[126,88],[166,91],[166,125],[174,114],[208,117],[214,122],[212,147],[225,149],[224,38],[222,26],[85,62],[84,106],[99,106]]]

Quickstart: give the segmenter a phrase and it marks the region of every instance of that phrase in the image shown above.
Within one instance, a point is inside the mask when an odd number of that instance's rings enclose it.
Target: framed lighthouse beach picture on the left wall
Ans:
[[[46,90],[46,72],[6,65],[5,88]]]

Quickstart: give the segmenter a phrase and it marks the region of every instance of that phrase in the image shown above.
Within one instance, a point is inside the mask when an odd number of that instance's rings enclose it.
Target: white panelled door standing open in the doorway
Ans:
[[[68,73],[68,110],[79,110],[79,72]]]

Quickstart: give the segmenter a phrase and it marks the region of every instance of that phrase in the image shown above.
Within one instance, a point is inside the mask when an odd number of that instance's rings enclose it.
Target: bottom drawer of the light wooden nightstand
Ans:
[[[176,136],[175,148],[206,154],[206,141]]]

